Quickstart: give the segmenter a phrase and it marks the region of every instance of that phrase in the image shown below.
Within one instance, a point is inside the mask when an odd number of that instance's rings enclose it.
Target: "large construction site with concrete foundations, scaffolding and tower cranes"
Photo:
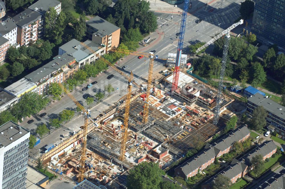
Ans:
[[[242,20],[234,26],[241,22]],[[229,32],[229,29],[225,31]],[[42,154],[40,158],[44,164],[76,182],[86,178],[94,184],[106,187],[114,183],[116,186],[111,187],[115,188],[125,185],[127,170],[133,166],[151,161],[158,163],[162,169],[166,168],[194,148],[195,140],[206,142],[219,133],[227,119],[220,115],[224,111],[231,114],[227,107],[233,102],[231,97],[222,93],[225,61],[222,62],[218,90],[181,72],[178,62],[182,54],[181,36],[174,60],[174,72],[165,76],[159,85],[152,83],[153,62],[157,57],[153,52],[108,49],[150,58],[146,89],[134,82],[132,72],[129,76],[126,75],[82,43],[125,77],[128,81],[127,94],[122,103],[117,103],[104,114],[92,118],[90,110],[86,110],[59,84],[82,110],[84,124],[82,130]],[[217,40],[217,37],[213,40]],[[201,48],[207,45],[209,43]],[[132,93],[133,85],[140,92]],[[167,89],[170,85],[171,91]]]

